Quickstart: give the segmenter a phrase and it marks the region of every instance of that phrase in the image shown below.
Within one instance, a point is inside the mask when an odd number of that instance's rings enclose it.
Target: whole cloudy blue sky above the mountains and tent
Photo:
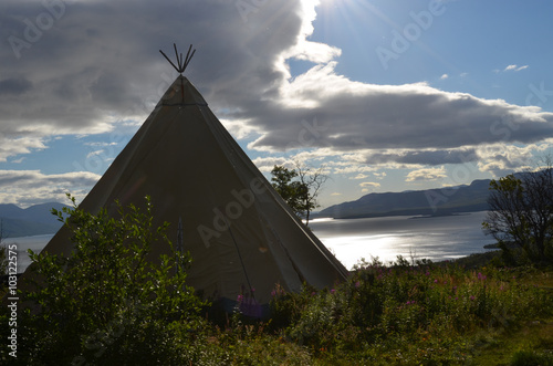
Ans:
[[[267,177],[321,208],[533,168],[553,147],[553,2],[2,0],[0,203],[84,198],[185,72]],[[194,175],[195,172],[191,172]],[[198,172],[200,174],[200,172]]]

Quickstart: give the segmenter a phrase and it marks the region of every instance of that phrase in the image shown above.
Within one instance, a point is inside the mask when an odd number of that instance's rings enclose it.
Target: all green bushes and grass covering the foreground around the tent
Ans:
[[[2,364],[553,365],[551,264],[373,259],[332,289],[276,285],[268,318],[242,314],[241,297],[215,321],[186,286],[186,253],[143,260],[167,241],[149,210],[66,213],[76,254],[33,255],[42,281],[24,294],[18,358],[2,347]]]

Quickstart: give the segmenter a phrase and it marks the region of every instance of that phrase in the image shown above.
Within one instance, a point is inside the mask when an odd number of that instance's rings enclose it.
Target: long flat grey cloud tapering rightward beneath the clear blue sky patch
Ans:
[[[275,106],[264,115],[259,108],[254,123],[267,134],[252,147],[282,149],[290,140],[298,139],[300,122],[315,116],[325,129],[312,143],[338,150],[445,149],[494,143],[528,144],[553,137],[553,113],[535,107],[447,93],[427,85],[347,87],[349,82],[330,76],[325,87],[340,92],[323,95],[316,107],[279,113]],[[314,83],[305,85],[301,97],[317,95]]]

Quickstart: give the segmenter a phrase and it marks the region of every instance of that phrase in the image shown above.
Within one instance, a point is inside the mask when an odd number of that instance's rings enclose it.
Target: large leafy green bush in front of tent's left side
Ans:
[[[21,321],[27,338],[20,349],[28,354],[19,356],[27,364],[184,362],[176,342],[186,342],[176,334],[194,331],[205,305],[186,285],[186,271],[176,271],[190,257],[173,248],[167,223],[153,226],[148,198],[145,212],[117,206],[117,218],[106,209],[53,210],[71,230],[74,247],[71,255],[30,251],[33,276],[24,299],[34,305]],[[153,245],[168,245],[170,253],[152,258]]]

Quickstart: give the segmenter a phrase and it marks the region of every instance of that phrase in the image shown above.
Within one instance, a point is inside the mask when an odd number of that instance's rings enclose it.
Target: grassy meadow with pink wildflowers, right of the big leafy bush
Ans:
[[[269,321],[236,313],[211,345],[244,365],[553,365],[553,269],[470,261],[376,260],[334,289],[275,289]]]

